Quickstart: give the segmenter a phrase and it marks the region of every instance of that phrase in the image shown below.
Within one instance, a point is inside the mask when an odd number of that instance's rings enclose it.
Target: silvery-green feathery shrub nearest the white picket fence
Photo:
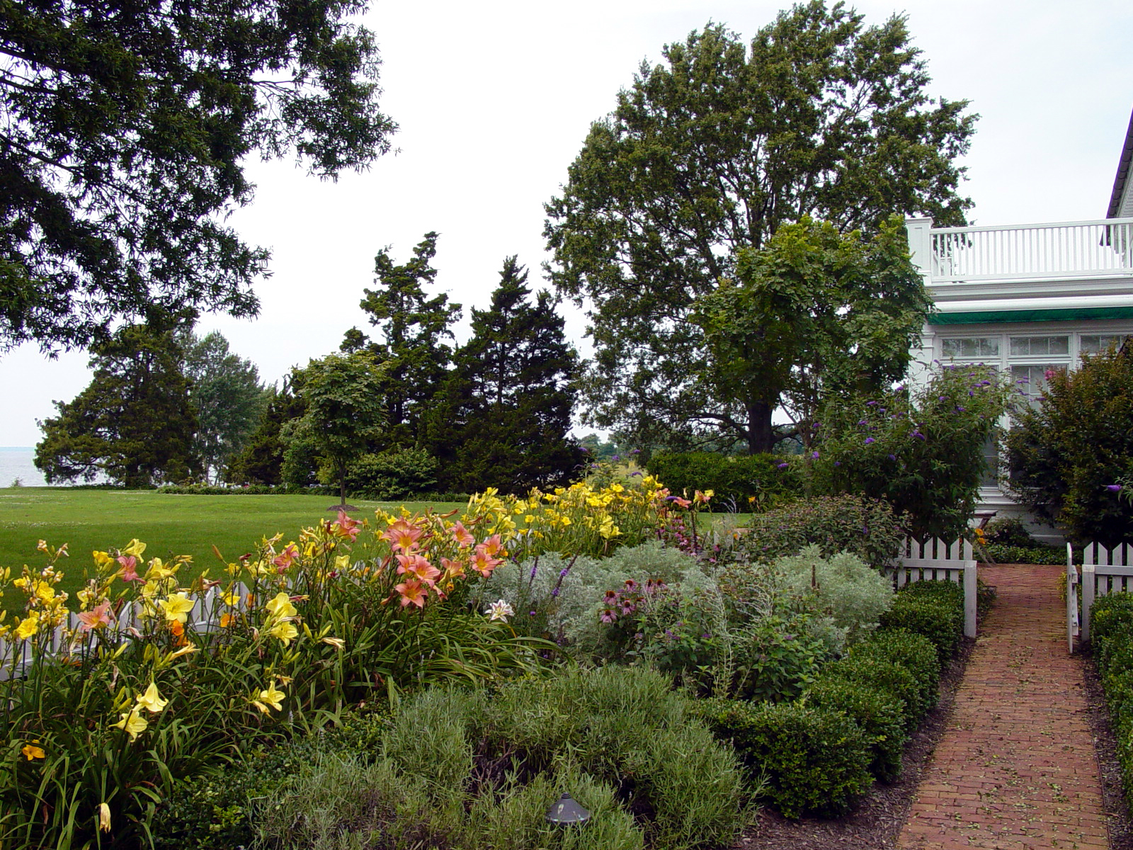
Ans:
[[[813,593],[819,609],[846,630],[851,644],[871,631],[893,602],[893,584],[849,552],[823,558],[821,550],[811,545],[798,555],[776,559],[772,567],[795,593]]]

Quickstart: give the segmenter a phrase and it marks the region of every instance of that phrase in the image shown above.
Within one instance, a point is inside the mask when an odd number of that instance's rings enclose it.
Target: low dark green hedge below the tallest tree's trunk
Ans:
[[[776,454],[730,457],[712,451],[657,452],[648,470],[674,493],[714,492],[736,511],[766,510],[801,491],[799,475]]]

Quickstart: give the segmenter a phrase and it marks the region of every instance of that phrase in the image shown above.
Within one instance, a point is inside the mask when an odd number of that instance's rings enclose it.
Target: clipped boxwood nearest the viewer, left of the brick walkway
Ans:
[[[785,817],[841,815],[872,784],[869,740],[841,712],[802,703],[710,699],[697,708]]]

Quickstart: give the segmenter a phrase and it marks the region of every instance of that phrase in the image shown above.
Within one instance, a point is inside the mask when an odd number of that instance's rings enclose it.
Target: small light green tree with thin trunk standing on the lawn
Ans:
[[[367,451],[385,423],[382,409],[383,367],[368,351],[327,355],[304,369],[307,411],[284,431],[287,456],[314,452],[339,484],[340,507],[347,503],[347,470]]]

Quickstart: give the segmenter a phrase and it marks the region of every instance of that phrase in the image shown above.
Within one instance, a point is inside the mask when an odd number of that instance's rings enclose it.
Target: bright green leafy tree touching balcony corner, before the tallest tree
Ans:
[[[740,249],[736,280],[693,303],[702,371],[661,424],[755,453],[775,444],[778,408],[809,447],[824,398],[880,392],[905,374],[930,308],[900,219],[872,239],[809,218],[784,224],[764,247]]]

